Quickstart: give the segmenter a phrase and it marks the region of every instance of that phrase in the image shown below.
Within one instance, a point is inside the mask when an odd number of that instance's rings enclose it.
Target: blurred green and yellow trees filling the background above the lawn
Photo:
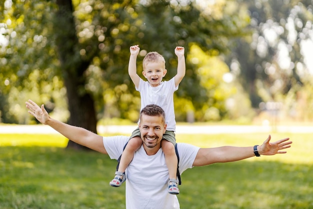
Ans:
[[[34,123],[28,98],[94,132],[99,119],[137,121],[134,44],[138,73],[158,51],[166,80],[175,46],[185,47],[177,121],[247,121],[262,102],[284,102],[288,114],[296,101],[312,104],[310,0],[2,0],[0,17],[0,122]]]

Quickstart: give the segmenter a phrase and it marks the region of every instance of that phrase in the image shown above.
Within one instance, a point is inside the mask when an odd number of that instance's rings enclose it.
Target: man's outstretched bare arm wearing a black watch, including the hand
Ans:
[[[282,149],[289,148],[292,141],[289,138],[283,138],[275,142],[270,141],[270,135],[257,146],[257,151],[261,155],[274,155],[286,153]],[[220,146],[214,148],[200,148],[193,162],[193,166],[208,165],[215,162],[231,162],[255,156],[253,146]]]

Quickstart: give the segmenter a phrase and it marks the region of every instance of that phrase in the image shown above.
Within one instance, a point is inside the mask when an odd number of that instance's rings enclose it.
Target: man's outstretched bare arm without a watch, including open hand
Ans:
[[[39,107],[32,100],[25,102],[28,113],[34,116],[39,122],[51,126],[53,129],[64,135],[69,140],[89,147],[95,151],[107,154],[103,146],[103,137],[81,127],[69,125],[51,118],[43,104]]]

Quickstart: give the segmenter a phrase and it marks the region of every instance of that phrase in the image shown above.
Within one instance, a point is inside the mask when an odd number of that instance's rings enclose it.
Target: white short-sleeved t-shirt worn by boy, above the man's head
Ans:
[[[152,87],[148,81],[140,78],[138,88],[136,88],[140,92],[140,111],[148,104],[159,105],[165,112],[166,130],[175,131],[174,91],[177,89],[178,85],[175,86],[174,77],[168,81],[162,81],[156,87]]]

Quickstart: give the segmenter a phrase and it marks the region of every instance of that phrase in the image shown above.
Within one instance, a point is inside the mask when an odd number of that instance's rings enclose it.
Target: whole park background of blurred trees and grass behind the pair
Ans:
[[[312,9],[311,0],[0,0],[0,208],[124,206],[123,190],[106,183],[115,162],[42,125],[19,125],[38,123],[30,98],[58,120],[126,134],[108,130],[138,119],[127,73],[134,44],[138,74],[155,50],[165,80],[176,72],[175,46],[185,48],[177,141],[254,145],[271,133],[294,142],[283,156],[186,171],[182,208],[313,208]]]

